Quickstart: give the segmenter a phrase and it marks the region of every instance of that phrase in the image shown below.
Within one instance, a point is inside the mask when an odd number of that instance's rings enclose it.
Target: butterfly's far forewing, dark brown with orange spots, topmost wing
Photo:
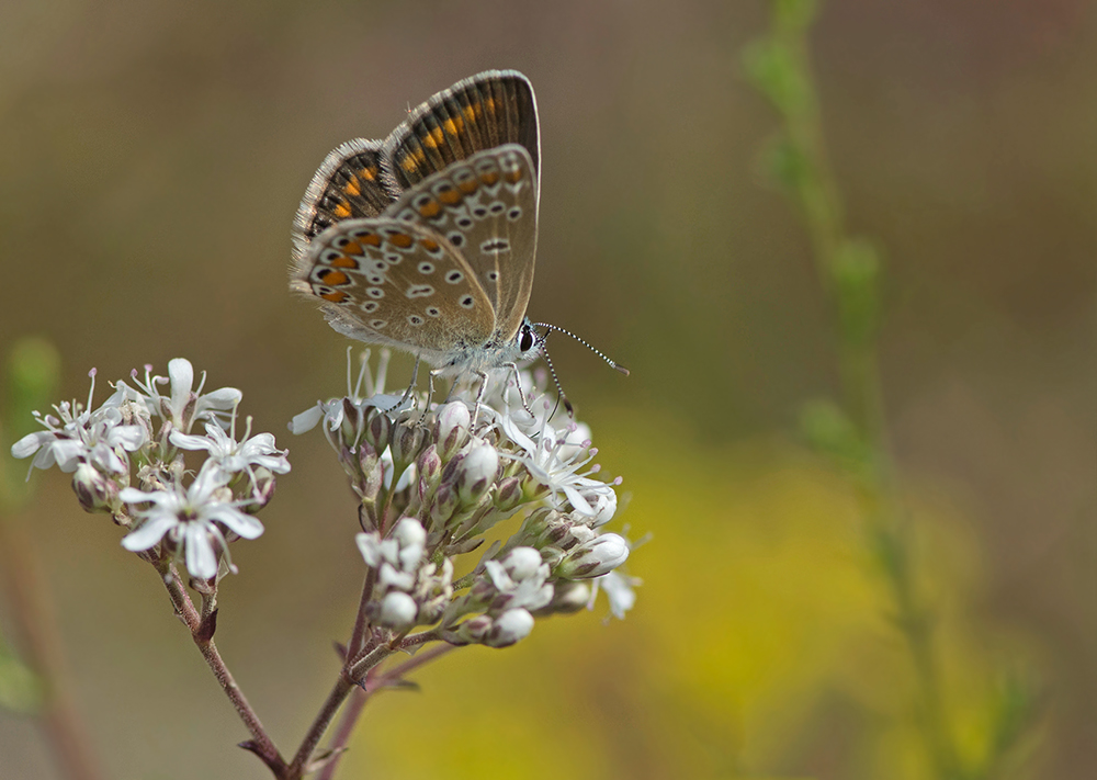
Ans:
[[[529,79],[488,70],[459,81],[411,112],[385,142],[392,184],[399,190],[483,149],[525,147],[538,169],[536,101]]]

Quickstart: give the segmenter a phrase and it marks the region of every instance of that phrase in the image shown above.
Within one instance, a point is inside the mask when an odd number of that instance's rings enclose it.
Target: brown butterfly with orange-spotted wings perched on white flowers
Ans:
[[[291,287],[339,332],[411,352],[433,374],[533,359],[539,167],[529,79],[459,81],[386,139],[328,155],[294,221]]]

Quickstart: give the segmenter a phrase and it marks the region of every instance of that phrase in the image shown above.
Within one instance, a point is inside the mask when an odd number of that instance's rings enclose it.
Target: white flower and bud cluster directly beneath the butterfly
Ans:
[[[386,363],[383,353],[378,374]],[[554,425],[528,373],[504,374],[428,406],[385,395],[363,360],[346,397],[291,423],[295,433],[323,426],[360,499],[371,573],[363,614],[381,634],[427,626],[451,644],[504,647],[530,633],[534,615],[577,611],[599,587],[613,614],[632,607],[635,580],[617,570],[630,543],[603,530],[620,479],[597,478],[589,429]],[[482,547],[478,562],[463,557]]]

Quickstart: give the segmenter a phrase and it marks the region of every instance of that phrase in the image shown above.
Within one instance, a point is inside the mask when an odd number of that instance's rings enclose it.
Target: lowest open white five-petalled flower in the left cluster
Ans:
[[[122,490],[120,497],[126,504],[151,504],[132,510],[142,523],[122,540],[122,546],[139,552],[167,539],[177,554],[182,546],[186,570],[192,576],[199,579],[216,576],[218,550],[227,553],[228,549],[223,527],[244,539],[257,539],[263,532],[262,523],[241,512],[238,502],[224,499],[225,477],[213,461],[206,461],[185,489],[172,485],[151,493],[133,487]]]

